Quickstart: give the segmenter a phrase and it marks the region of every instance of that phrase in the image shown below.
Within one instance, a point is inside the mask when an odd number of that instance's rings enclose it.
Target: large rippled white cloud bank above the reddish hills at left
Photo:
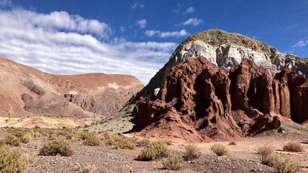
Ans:
[[[147,84],[177,46],[112,38],[104,22],[65,11],[0,10],[0,23],[1,57],[53,74],[130,74]]]

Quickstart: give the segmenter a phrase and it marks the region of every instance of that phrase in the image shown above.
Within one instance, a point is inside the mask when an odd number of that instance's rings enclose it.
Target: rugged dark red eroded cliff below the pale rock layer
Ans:
[[[200,142],[278,133],[287,118],[302,123],[308,111],[290,105],[306,106],[307,79],[285,71],[274,78],[244,58],[228,75],[204,57],[189,58],[172,68],[156,100],[140,99],[137,135]]]

